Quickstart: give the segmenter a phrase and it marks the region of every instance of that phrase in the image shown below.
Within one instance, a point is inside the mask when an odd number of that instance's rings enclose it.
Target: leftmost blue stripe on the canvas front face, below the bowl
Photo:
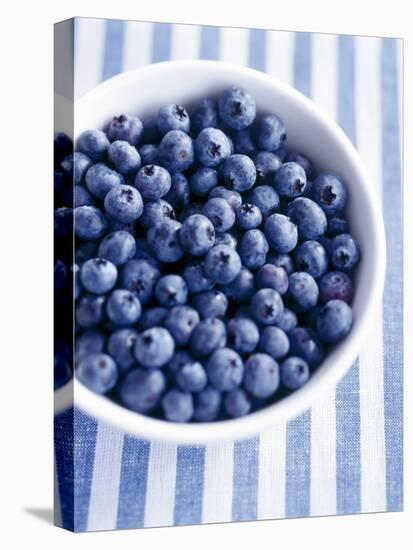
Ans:
[[[89,416],[75,409],[73,427],[76,442],[73,453],[74,530],[86,531],[98,424]]]

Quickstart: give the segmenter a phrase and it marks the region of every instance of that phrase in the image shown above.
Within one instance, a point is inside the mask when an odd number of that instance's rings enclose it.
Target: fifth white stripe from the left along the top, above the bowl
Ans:
[[[267,73],[286,84],[293,81],[294,33],[267,31]]]

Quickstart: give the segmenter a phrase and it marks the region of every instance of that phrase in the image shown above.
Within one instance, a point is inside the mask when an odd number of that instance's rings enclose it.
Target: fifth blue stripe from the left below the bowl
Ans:
[[[310,515],[311,412],[287,423],[285,515]]]

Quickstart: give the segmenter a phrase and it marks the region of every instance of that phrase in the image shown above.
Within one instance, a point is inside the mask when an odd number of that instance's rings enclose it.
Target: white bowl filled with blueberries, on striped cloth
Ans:
[[[346,373],[381,299],[383,222],[310,100],[159,63],[83,96],[74,143],[76,406],[143,438],[241,439]]]

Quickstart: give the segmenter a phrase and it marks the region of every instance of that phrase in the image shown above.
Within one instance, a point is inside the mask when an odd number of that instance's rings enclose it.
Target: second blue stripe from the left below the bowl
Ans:
[[[125,435],[119,483],[117,529],[143,527],[149,461],[148,441]]]

